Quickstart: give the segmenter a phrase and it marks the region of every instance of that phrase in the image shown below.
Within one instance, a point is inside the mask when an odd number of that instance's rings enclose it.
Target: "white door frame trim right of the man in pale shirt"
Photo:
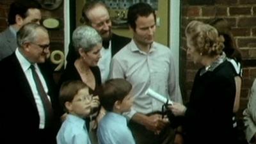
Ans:
[[[176,77],[179,81],[179,59],[180,59],[180,1],[170,1],[170,47],[173,53]]]

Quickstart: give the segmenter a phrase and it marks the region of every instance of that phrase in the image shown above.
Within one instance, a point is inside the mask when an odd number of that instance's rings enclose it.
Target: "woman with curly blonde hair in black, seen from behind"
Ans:
[[[223,53],[223,38],[210,26],[193,20],[186,27],[188,51],[198,70],[188,104],[169,108],[184,118],[184,143],[238,143],[232,122],[236,83],[234,68]]]

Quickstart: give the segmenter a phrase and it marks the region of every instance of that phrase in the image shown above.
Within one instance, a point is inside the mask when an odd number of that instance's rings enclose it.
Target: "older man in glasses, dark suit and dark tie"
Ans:
[[[1,143],[56,143],[60,107],[45,63],[50,54],[47,29],[28,23],[17,32],[17,44],[0,61]]]

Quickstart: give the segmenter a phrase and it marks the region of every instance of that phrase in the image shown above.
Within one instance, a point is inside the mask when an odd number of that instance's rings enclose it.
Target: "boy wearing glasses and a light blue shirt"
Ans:
[[[59,98],[68,115],[57,134],[57,143],[91,144],[84,120],[91,111],[88,86],[82,81],[67,81],[61,85]]]

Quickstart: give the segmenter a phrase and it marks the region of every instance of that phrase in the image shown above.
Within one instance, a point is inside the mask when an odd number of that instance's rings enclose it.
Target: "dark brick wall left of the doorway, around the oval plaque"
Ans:
[[[13,3],[14,0],[1,0],[0,1],[0,31],[3,31],[8,27],[7,17],[9,12],[9,6]],[[41,10],[42,12],[42,21],[47,18],[58,19],[60,26],[56,29],[48,29],[49,36],[51,40],[51,52],[60,50],[64,51],[64,16],[63,16],[63,3],[56,10]],[[41,22],[42,24],[42,22]],[[58,57],[58,55],[56,56]],[[56,58],[58,60],[60,58]],[[52,67],[56,68],[58,65],[52,63]],[[62,68],[61,68],[62,69]],[[54,79],[58,81],[60,77],[60,70],[54,73]]]

